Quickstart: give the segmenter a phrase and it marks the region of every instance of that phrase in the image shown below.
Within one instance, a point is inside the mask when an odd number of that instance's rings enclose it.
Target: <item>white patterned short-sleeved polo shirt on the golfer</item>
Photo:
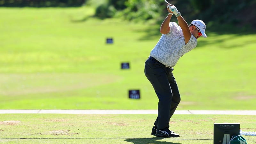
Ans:
[[[180,26],[176,22],[170,22],[169,26],[169,33],[161,36],[150,56],[165,66],[174,67],[181,56],[196,47],[197,40],[191,34],[188,43],[185,44]]]

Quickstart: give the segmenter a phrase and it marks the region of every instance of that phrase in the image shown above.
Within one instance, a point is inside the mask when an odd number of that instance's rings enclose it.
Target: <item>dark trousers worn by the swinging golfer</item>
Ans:
[[[173,68],[166,68],[153,57],[145,62],[145,76],[155,89],[158,101],[157,129],[169,128],[170,118],[180,103],[180,92],[172,74]]]

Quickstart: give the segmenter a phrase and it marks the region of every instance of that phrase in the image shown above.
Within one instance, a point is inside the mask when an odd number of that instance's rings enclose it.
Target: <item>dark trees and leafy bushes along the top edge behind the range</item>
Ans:
[[[167,0],[167,2],[175,5],[187,21],[201,19],[205,23],[218,24],[218,27],[236,25],[256,29],[256,0]],[[97,4],[94,16],[100,19],[117,17],[124,20],[154,20],[161,23],[167,14],[164,0],[0,0],[0,7],[73,7],[89,4]]]

